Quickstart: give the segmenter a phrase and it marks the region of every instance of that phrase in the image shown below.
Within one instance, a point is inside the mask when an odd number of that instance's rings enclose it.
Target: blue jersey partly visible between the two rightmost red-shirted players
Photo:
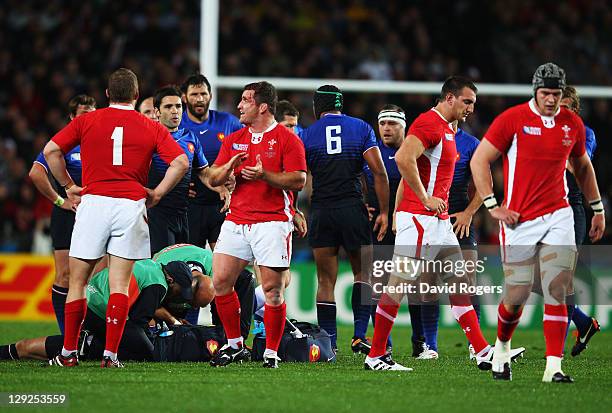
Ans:
[[[458,128],[455,134],[455,143],[457,145],[457,161],[455,162],[453,183],[448,196],[449,214],[465,211],[470,203],[468,196],[468,185],[472,177],[470,160],[480,141],[463,129]]]

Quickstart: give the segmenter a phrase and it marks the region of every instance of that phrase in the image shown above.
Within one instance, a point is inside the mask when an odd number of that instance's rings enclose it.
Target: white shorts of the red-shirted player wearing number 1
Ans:
[[[132,260],[151,258],[145,199],[83,195],[76,212],[70,256],[90,260],[107,252]]]

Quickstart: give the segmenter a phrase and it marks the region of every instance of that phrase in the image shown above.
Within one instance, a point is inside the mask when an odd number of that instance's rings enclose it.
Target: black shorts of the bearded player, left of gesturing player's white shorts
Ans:
[[[217,242],[221,225],[225,221],[225,212],[219,212],[223,204],[198,205],[189,204],[189,243],[205,248],[206,241]]]

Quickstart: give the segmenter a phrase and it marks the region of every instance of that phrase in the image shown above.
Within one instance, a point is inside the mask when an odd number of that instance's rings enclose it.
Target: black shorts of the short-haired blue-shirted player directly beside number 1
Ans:
[[[172,214],[161,208],[151,208],[147,211],[147,217],[149,219],[151,254],[161,251],[168,245],[189,242],[187,212]]]

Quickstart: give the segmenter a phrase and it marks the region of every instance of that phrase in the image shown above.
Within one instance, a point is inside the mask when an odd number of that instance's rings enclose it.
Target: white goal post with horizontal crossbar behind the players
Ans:
[[[212,87],[213,101],[211,108],[216,108],[216,90],[218,88],[242,89],[244,85],[259,80],[267,80],[279,90],[313,91],[324,84],[334,84],[343,92],[363,93],[405,93],[405,94],[431,94],[440,93],[442,82],[406,82],[406,81],[378,81],[378,80],[349,80],[349,79],[304,79],[285,77],[247,77],[247,76],[221,76],[219,75],[219,1],[200,0],[200,67],[202,73],[208,78]],[[478,83],[479,95],[493,96],[529,96],[531,85]],[[606,86],[580,86],[576,88],[583,98],[612,98],[612,87]]]

